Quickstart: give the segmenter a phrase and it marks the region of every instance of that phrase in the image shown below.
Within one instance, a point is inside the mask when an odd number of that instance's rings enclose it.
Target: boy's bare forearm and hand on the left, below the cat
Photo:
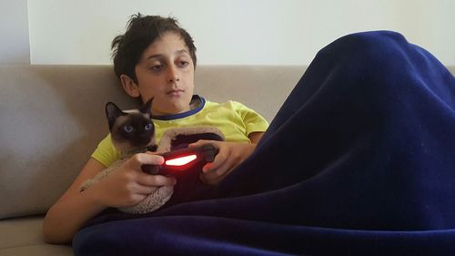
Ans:
[[[144,200],[160,186],[173,186],[176,180],[161,175],[148,175],[142,164],[160,165],[161,156],[139,153],[128,159],[105,179],[79,192],[80,185],[105,169],[96,159],[89,159],[73,184],[47,211],[43,222],[45,241],[66,243],[72,241],[77,230],[87,220],[107,207],[126,207]]]

